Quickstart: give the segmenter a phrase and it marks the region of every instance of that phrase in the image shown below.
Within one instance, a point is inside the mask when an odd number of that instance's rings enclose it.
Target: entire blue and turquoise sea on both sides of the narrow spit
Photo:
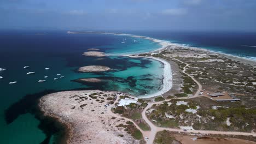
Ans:
[[[36,33],[45,33],[38,35]],[[145,35],[173,43],[203,47],[246,58],[256,57],[256,34],[242,32],[125,32]],[[125,41],[125,44],[121,43]],[[35,118],[36,98],[45,89],[102,89],[133,95],[154,93],[162,86],[162,64],[147,58],[120,54],[147,52],[160,45],[150,40],[107,34],[67,34],[66,31],[0,31],[0,143],[53,143],[56,131]],[[97,59],[82,55],[97,48],[111,56]],[[25,65],[30,68],[23,69]],[[77,73],[79,67],[105,65],[103,73]],[[50,68],[45,70],[45,68]],[[26,75],[35,71],[34,75]],[[60,76],[65,76],[62,79]],[[48,76],[44,78],[44,76]],[[72,80],[100,77],[101,85]],[[58,78],[58,80],[54,80]],[[46,80],[39,83],[38,80]],[[18,81],[9,85],[11,81]],[[44,92],[44,93],[43,93]],[[29,95],[31,94],[31,95]],[[40,121],[39,121],[40,119]],[[50,125],[51,126],[51,125]],[[40,127],[40,128],[38,128]]]

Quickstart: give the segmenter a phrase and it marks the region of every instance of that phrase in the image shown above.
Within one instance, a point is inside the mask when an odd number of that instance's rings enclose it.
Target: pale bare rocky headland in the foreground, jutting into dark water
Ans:
[[[68,126],[67,143],[139,143],[125,128],[118,127],[127,121],[110,110],[114,106],[110,101],[113,103],[116,95],[101,91],[58,92],[42,97],[39,107],[44,115]]]

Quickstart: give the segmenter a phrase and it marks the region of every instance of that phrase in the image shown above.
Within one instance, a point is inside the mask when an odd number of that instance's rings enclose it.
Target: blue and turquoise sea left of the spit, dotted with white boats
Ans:
[[[157,49],[158,44],[149,40],[133,39],[117,35],[66,34],[66,32],[48,32],[46,35],[34,35],[38,32],[3,32],[0,35],[0,71],[4,78],[0,80],[0,143],[40,143],[45,133],[38,128],[40,121],[34,118],[30,109],[18,105],[27,94],[42,92],[45,89],[57,91],[65,89],[102,89],[105,91],[123,91],[134,95],[154,93],[162,86],[162,64],[153,59],[110,56],[103,60],[82,56],[89,48],[100,48],[107,53],[138,53]],[[25,65],[30,68],[23,69]],[[86,65],[106,65],[111,71],[103,73],[76,73],[79,67]],[[48,67],[49,70],[44,68]],[[34,75],[26,75],[36,71]],[[60,79],[61,74],[65,76]],[[48,76],[48,78],[44,78]],[[59,80],[53,80],[58,77]],[[102,85],[81,84],[72,80],[88,77],[101,77]],[[38,80],[46,82],[38,83]],[[9,85],[10,81],[18,81]],[[31,99],[25,99],[27,105]],[[35,101],[34,101],[35,102]],[[23,102],[22,102],[23,103]],[[13,105],[17,111],[8,110]],[[29,106],[28,106],[29,107]],[[24,114],[20,113],[23,111]],[[15,118],[15,116],[18,116]],[[9,117],[7,124],[5,118]],[[53,143],[53,137],[51,142]]]

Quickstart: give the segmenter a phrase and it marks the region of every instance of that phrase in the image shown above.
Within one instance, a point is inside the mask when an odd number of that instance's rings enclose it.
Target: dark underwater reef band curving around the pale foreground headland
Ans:
[[[89,88],[75,88],[68,89],[65,91],[82,91],[88,89]],[[56,91],[54,89],[46,89],[39,93],[25,95],[22,99],[10,105],[8,109],[5,110],[5,122],[7,124],[10,124],[14,122],[15,119],[18,118],[20,115],[31,113],[35,118],[37,118],[40,121],[38,128],[41,129],[43,133],[46,135],[46,138],[40,143],[48,144],[52,136],[54,136],[55,138],[55,143],[65,143],[65,140],[63,140],[66,138],[65,135],[67,135],[67,129],[65,125],[57,121],[56,118],[44,116],[44,113],[40,111],[38,106],[40,98],[42,98],[46,94],[56,92],[61,91]]]

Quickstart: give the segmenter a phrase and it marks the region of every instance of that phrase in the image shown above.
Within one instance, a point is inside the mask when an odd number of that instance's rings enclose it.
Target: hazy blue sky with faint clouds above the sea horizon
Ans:
[[[0,0],[2,29],[256,31],[255,0]]]

